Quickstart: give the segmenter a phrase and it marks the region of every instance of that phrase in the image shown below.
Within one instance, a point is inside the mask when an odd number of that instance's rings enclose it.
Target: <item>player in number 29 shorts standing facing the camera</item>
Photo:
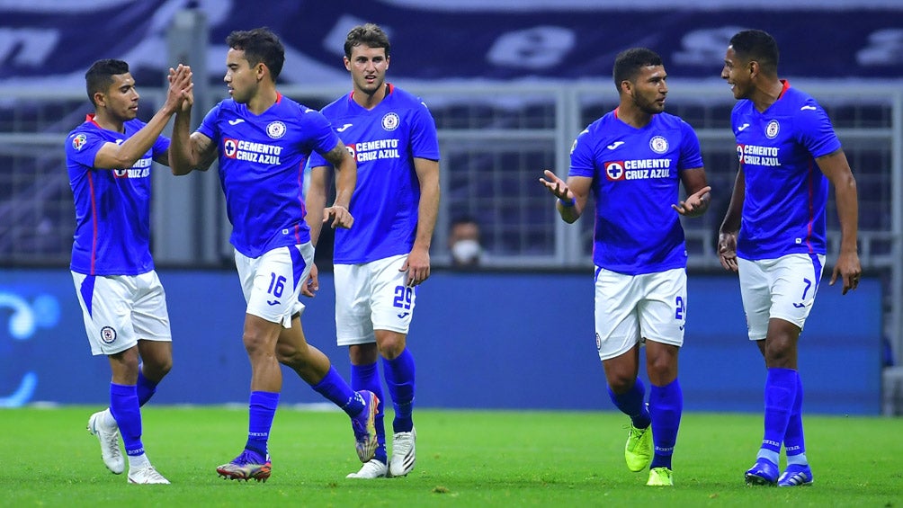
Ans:
[[[406,476],[414,469],[414,356],[405,346],[418,285],[430,276],[430,242],[439,209],[439,142],[433,115],[418,98],[386,83],[389,41],[377,25],[357,26],[345,41],[351,93],[322,113],[358,162],[351,211],[354,228],[337,229],[334,247],[336,328],[349,346],[351,386],[383,400],[382,356],[392,396],[392,458],[387,461],[383,404],[377,409],[377,451],[350,478]],[[312,181],[324,161],[312,157]],[[322,183],[308,194],[312,214],[325,202]],[[317,221],[312,221],[315,223]],[[314,226],[312,235],[318,231]]]

